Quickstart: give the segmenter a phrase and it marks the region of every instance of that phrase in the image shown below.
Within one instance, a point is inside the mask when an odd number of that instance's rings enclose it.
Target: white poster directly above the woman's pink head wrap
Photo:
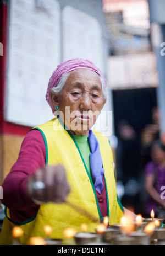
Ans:
[[[71,6],[63,9],[63,61],[80,57],[103,70],[102,29],[92,17]]]

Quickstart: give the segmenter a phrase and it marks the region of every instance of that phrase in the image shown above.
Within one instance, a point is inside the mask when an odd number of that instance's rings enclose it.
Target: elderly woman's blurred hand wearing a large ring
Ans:
[[[36,204],[64,202],[70,192],[65,168],[62,165],[45,166],[29,177],[27,194]]]

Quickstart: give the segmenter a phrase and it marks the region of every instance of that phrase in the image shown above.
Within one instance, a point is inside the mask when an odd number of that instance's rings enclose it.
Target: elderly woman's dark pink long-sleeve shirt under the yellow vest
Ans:
[[[10,209],[14,221],[25,221],[36,215],[40,205],[35,204],[27,195],[26,183],[29,175],[45,166],[46,149],[41,132],[31,130],[25,136],[17,162],[4,179],[2,203]],[[97,194],[102,217],[107,215],[105,180],[102,194]]]

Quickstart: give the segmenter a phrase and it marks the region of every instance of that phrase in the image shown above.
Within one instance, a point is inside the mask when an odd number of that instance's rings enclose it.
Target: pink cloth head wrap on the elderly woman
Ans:
[[[63,74],[76,70],[78,68],[86,68],[87,70],[95,71],[97,74],[99,74],[103,78],[103,80],[105,81],[105,87],[106,87],[106,79],[105,77],[103,77],[103,74],[95,66],[94,63],[92,63],[89,60],[83,60],[83,58],[71,58],[70,60],[64,61],[61,64],[59,64],[56,70],[53,71],[52,76],[50,78],[50,81],[48,83],[47,93],[46,93],[46,100],[48,104],[51,106],[51,108],[52,108],[51,99],[50,99],[51,88],[57,86]]]

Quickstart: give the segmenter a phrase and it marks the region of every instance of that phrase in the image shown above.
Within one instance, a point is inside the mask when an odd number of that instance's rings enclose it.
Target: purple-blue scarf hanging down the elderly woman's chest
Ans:
[[[92,171],[92,176],[94,179],[95,189],[101,194],[103,189],[103,175],[105,169],[103,169],[103,162],[100,153],[100,147],[98,140],[92,130],[89,130],[88,141],[91,149],[90,153],[90,167]]]

